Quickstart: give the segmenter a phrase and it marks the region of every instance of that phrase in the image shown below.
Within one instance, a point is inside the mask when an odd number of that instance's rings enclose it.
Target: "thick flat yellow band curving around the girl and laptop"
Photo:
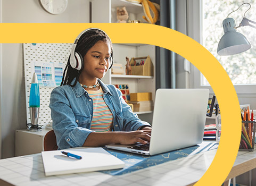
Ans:
[[[195,40],[166,27],[143,23],[0,23],[0,43],[73,43],[87,28],[104,30],[113,43],[149,44],[172,50],[202,72],[218,98],[222,124],[216,156],[195,185],[223,183],[235,162],[240,143],[240,106],[226,71]]]

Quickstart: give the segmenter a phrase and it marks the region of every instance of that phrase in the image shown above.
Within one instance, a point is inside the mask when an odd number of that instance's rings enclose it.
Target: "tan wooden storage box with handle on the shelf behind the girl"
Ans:
[[[141,61],[138,61],[141,60]],[[144,62],[143,62],[144,61]],[[136,65],[139,64],[139,65]],[[131,75],[154,75],[154,66],[150,59],[150,56],[147,57],[133,57],[130,61],[131,65]]]

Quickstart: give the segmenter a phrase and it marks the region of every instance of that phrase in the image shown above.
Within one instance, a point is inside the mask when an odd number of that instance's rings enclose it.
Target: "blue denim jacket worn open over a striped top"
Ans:
[[[75,79],[71,84],[75,82]],[[103,90],[103,99],[113,114],[113,131],[135,131],[149,123],[141,121],[131,111],[122,98],[120,90],[112,84],[98,80]],[[59,149],[81,147],[88,135],[93,132],[90,125],[93,119],[93,100],[77,82],[53,89],[49,107],[53,120],[53,130]]]

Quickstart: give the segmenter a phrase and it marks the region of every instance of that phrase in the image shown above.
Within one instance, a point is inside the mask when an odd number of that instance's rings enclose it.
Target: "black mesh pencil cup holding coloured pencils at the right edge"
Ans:
[[[255,140],[255,121],[242,121],[242,133],[239,150],[253,151]]]

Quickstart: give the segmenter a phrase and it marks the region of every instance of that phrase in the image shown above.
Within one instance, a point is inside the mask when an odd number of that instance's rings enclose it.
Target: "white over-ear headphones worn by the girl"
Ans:
[[[77,43],[78,43],[78,40],[79,38],[81,37],[81,35],[83,35],[85,32],[89,31],[89,30],[100,30],[102,32],[104,32],[103,30],[101,29],[98,29],[98,28],[89,28],[89,29],[86,29],[84,31],[82,31],[76,38],[75,40],[75,43],[73,44],[72,46],[72,49],[71,49],[71,54],[70,54],[70,59],[69,59],[69,63],[70,63],[70,66],[73,68],[73,69],[76,69],[76,70],[81,70],[82,68],[82,64],[84,64],[84,59],[82,58],[81,54],[79,52],[76,52],[76,46],[77,46]],[[104,32],[105,33],[105,32]],[[106,33],[105,33],[106,34]],[[106,34],[106,36],[108,36]],[[108,36],[109,37],[109,36]],[[113,65],[113,53],[111,54],[111,65],[109,67],[109,69],[111,69]]]

